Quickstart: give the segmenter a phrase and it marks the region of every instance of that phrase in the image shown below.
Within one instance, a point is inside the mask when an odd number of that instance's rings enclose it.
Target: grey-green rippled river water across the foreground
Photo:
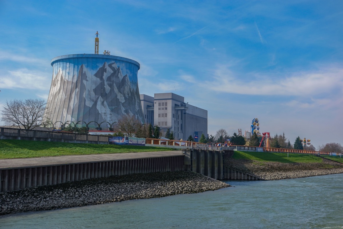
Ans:
[[[0,217],[0,228],[343,228],[343,174]]]

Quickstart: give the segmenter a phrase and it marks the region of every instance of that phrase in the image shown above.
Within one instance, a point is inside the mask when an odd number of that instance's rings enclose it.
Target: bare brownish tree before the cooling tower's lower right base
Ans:
[[[124,115],[118,119],[114,126],[115,132],[121,132],[126,137],[134,137],[142,123],[134,116]]]

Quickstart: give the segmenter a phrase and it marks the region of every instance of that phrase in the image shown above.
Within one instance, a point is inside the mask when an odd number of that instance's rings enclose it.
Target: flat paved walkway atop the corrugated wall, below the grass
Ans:
[[[1,159],[0,169],[22,168],[40,165],[70,164],[99,161],[120,161],[126,159],[154,158],[180,156],[182,151],[156,151],[139,153],[111,153],[111,154],[91,154],[91,155],[71,155],[58,157],[21,158],[21,159]]]

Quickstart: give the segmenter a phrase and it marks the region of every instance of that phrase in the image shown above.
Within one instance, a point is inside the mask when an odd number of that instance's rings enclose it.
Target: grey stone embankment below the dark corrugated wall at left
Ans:
[[[0,193],[0,215],[199,193],[229,186],[184,171],[111,176]]]

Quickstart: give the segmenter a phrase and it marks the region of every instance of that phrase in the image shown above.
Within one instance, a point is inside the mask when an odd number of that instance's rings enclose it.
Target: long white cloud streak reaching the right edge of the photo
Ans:
[[[213,76],[215,85],[205,82],[213,91],[248,95],[319,95],[343,88],[343,69],[329,68],[317,72],[295,72],[291,76],[253,75],[245,82],[230,71],[219,66]],[[276,78],[277,77],[277,78]],[[276,78],[276,80],[275,80]],[[253,80],[255,79],[255,80]]]

